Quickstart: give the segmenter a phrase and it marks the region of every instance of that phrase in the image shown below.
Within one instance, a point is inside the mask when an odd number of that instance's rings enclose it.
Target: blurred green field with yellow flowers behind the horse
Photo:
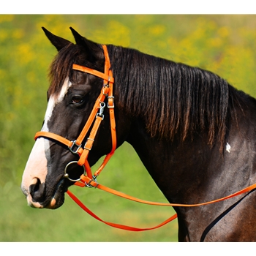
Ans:
[[[20,181],[45,115],[48,67],[56,55],[42,26],[73,41],[72,26],[95,42],[208,69],[256,97],[256,16],[0,15],[0,241],[178,241],[177,221],[132,233],[97,222],[68,196],[57,210],[27,206]],[[118,148],[99,183],[166,202],[127,143]],[[172,208],[132,203],[97,189],[71,190],[109,222],[152,227],[174,214]]]

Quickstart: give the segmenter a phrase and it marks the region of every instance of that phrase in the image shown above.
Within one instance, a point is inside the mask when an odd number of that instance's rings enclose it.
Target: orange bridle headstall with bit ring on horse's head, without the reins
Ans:
[[[45,137],[50,138],[53,140],[57,140],[61,142],[62,144],[66,145],[69,150],[73,154],[78,154],[80,159],[78,161],[69,162],[67,164],[65,171],[64,171],[64,177],[69,178],[69,173],[67,173],[67,168],[69,165],[72,164],[78,164],[80,166],[84,167],[84,175],[87,174],[87,176],[96,181],[97,176],[99,173],[103,170],[105,165],[107,164],[108,160],[112,155],[114,154],[116,150],[116,121],[115,121],[115,114],[114,114],[114,97],[113,97],[113,72],[110,69],[110,59],[108,56],[108,49],[106,45],[102,45],[104,56],[105,56],[105,69],[104,73],[99,72],[95,69],[90,69],[89,67],[83,67],[77,64],[73,64],[72,69],[86,72],[91,75],[95,75],[98,78],[103,79],[103,86],[102,90],[99,94],[99,97],[97,98],[94,108],[91,110],[91,114],[86,121],[85,126],[83,127],[82,132],[80,132],[80,135],[78,136],[77,140],[67,140],[66,138],[61,137],[60,135],[56,135],[52,132],[37,132],[35,135],[35,140],[39,137]],[[92,175],[91,173],[91,167],[89,165],[89,162],[87,161],[89,151],[91,151],[91,148],[94,143],[94,138],[97,135],[97,131],[99,129],[99,126],[104,118],[103,111],[105,108],[105,97],[108,97],[108,109],[110,113],[110,129],[111,129],[111,137],[112,137],[112,150],[109,154],[105,157],[104,161],[102,162],[102,165],[99,167],[99,169]],[[93,127],[92,124],[94,123]],[[84,147],[82,147],[83,140],[86,138],[86,134],[89,132],[89,129],[92,127],[89,138],[86,140],[86,144]],[[72,179],[69,178],[71,181],[80,181],[80,178],[78,179]],[[89,187],[91,187],[90,184],[88,184]]]

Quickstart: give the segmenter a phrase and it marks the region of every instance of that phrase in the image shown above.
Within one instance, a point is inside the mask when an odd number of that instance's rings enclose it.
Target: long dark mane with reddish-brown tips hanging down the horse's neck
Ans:
[[[236,91],[226,80],[197,67],[167,61],[138,50],[108,46],[118,103],[143,117],[152,137],[184,141],[208,131],[208,144],[223,148]],[[236,114],[236,113],[235,113]]]

